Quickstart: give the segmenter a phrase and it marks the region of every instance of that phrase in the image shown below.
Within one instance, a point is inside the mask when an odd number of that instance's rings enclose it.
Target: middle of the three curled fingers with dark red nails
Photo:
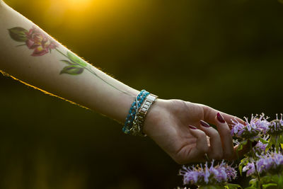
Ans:
[[[200,129],[209,136],[210,147],[207,153],[209,159],[222,159],[223,149],[219,133],[203,120],[200,120],[200,125],[202,125]]]

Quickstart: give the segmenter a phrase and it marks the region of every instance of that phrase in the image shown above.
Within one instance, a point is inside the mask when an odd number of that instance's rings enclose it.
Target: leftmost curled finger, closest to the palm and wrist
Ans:
[[[209,151],[207,135],[202,130],[198,130],[197,127],[192,125],[189,127],[190,133],[197,138],[197,146],[190,151],[188,159],[190,161],[204,161],[204,154]]]

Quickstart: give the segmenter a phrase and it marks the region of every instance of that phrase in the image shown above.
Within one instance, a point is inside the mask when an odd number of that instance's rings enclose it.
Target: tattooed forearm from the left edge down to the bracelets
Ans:
[[[120,122],[125,120],[137,90],[79,59],[12,8],[5,4],[0,8],[2,71]]]

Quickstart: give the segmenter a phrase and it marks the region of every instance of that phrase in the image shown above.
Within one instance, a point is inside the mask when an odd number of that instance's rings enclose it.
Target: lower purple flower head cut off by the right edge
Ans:
[[[283,155],[276,152],[260,156],[258,161],[248,163],[243,167],[243,171],[247,171],[247,176],[255,174],[255,165],[258,173],[280,173],[283,168]]]

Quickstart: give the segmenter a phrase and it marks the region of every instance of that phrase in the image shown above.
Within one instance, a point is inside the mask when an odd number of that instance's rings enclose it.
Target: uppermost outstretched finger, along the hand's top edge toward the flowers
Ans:
[[[240,118],[234,116],[234,115],[229,115],[227,113],[222,113],[218,110],[215,110],[214,108],[211,108],[207,105],[204,105],[203,107],[204,109],[204,121],[212,123],[213,125],[216,125],[217,122],[215,121],[215,116],[217,115],[217,113],[221,113],[221,115],[223,116],[224,120],[227,122],[227,124],[229,125],[229,127],[231,127],[232,125],[232,121],[231,120],[237,120],[238,122],[244,124],[245,122],[243,120],[241,120]]]

